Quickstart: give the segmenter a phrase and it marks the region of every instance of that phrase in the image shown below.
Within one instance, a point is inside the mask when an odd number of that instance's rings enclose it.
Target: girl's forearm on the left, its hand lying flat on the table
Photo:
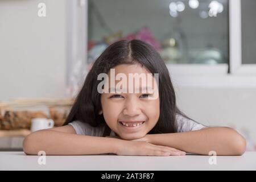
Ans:
[[[27,155],[38,155],[39,151],[46,152],[46,155],[107,154],[115,153],[118,140],[42,130],[24,139],[23,151]]]

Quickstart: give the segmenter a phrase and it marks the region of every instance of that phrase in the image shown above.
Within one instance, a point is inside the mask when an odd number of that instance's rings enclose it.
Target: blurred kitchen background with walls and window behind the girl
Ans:
[[[255,0],[0,0],[0,151],[32,118],[61,126],[94,60],[140,39],[166,61],[177,104],[256,150]]]

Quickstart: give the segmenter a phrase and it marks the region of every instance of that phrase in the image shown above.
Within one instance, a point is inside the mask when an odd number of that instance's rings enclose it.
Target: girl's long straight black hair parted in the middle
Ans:
[[[149,133],[176,133],[176,114],[187,116],[176,106],[175,91],[166,64],[152,46],[141,40],[121,40],[105,49],[86,76],[64,125],[80,120],[93,127],[108,127],[103,114],[98,114],[102,108],[101,94],[97,92],[97,86],[101,80],[97,80],[97,76],[100,73],[108,74],[111,68],[120,64],[138,63],[152,75],[159,73],[160,115],[155,127]]]

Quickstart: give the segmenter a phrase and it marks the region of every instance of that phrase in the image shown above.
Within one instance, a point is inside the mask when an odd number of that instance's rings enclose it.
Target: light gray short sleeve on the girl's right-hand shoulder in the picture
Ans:
[[[195,131],[195,130],[201,130],[204,127],[207,127],[191,119],[188,119],[181,114],[176,114],[176,121],[177,121],[177,132]]]

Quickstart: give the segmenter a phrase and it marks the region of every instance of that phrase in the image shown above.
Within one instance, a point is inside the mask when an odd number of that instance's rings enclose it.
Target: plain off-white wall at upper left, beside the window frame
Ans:
[[[46,3],[39,18],[38,4]],[[66,97],[66,1],[0,1],[0,101]]]

